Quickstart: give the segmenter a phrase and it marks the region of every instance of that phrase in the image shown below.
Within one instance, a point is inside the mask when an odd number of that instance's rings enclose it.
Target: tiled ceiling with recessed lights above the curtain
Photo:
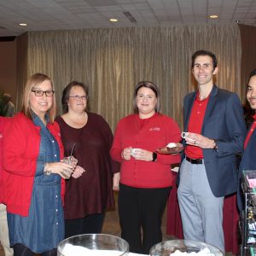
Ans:
[[[0,0],[0,37],[29,31],[234,22],[256,26],[256,0]]]

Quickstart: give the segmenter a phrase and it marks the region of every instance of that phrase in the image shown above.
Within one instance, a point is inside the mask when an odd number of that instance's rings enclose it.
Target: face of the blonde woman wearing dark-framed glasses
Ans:
[[[32,90],[53,90],[52,84],[49,80],[44,80],[41,84],[35,85]],[[29,95],[29,104],[30,108],[34,113],[36,113],[40,119],[44,119],[45,113],[52,106],[54,101],[53,96],[46,96],[45,93],[43,96],[35,96],[33,91]]]

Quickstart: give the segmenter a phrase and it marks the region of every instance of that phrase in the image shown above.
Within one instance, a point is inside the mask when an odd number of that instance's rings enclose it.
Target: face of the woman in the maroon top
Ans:
[[[84,112],[87,103],[86,97],[87,95],[83,87],[79,85],[73,86],[69,92],[69,98],[67,101],[68,112]]]

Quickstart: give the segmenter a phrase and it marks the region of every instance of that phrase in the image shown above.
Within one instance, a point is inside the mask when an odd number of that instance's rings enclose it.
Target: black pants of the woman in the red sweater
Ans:
[[[162,241],[161,218],[171,189],[138,189],[120,184],[121,237],[128,241],[131,253],[148,254],[154,244]]]

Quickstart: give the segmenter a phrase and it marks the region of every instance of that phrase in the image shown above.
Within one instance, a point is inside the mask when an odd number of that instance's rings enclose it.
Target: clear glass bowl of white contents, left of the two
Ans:
[[[128,242],[118,236],[105,234],[84,234],[71,236],[61,241],[57,248],[58,256],[127,256]]]

